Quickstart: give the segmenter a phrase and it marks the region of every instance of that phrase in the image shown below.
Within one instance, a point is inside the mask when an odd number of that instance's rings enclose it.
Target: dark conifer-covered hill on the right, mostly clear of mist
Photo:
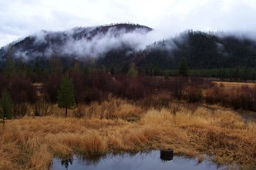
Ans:
[[[186,58],[188,67],[200,70],[202,75],[204,70],[223,68],[226,73],[222,75],[231,77],[229,68],[255,69],[255,48],[256,41],[251,38],[189,30],[175,38],[155,42],[142,52],[130,54],[130,58],[135,58],[138,68],[150,72],[177,69],[180,58]]]

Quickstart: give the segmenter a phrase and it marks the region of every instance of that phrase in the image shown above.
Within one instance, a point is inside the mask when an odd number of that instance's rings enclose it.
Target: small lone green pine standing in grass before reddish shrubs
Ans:
[[[58,90],[57,103],[59,108],[66,109],[66,117],[68,115],[68,108],[76,108],[74,84],[72,83],[72,79],[68,76],[62,78],[62,82],[60,83],[60,88]]]

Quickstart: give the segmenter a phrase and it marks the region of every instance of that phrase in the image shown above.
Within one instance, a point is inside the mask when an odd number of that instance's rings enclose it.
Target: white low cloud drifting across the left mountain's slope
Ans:
[[[105,55],[111,49],[119,49],[123,46],[129,47],[131,51],[137,52],[146,48],[152,42],[157,41],[156,32],[149,32],[147,28],[136,28],[127,31],[125,28],[109,28],[107,32],[97,32],[93,28],[73,28],[65,32],[36,32],[30,38],[35,39],[32,46],[25,50],[18,48],[15,57],[29,59],[32,56],[62,55],[79,59]],[[16,43],[16,42],[15,42]],[[13,44],[15,44],[13,43]],[[47,46],[45,50],[39,52],[38,46]],[[30,55],[30,56],[29,56]]]

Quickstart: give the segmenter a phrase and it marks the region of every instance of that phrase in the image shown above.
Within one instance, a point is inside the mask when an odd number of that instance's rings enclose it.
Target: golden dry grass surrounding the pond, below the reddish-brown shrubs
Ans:
[[[55,111],[56,112],[56,111]],[[72,118],[78,115],[82,118]],[[173,148],[175,154],[213,155],[220,165],[256,168],[256,124],[231,110],[170,105],[143,110],[126,102],[79,106],[57,115],[10,120],[0,128],[0,169],[49,169],[52,158],[74,153]]]

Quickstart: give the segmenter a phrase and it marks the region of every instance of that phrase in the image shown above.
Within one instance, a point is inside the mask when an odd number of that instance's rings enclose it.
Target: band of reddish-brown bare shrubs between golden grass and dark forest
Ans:
[[[76,67],[47,75],[22,75],[22,72],[11,75],[8,69],[0,74],[0,89],[7,89],[12,98],[16,118],[31,114],[31,108],[34,115],[49,115],[49,105],[56,104],[60,82],[66,75],[72,79],[77,105],[125,98],[143,108],[168,108],[172,102],[184,101],[256,111],[256,86],[226,89],[204,78],[159,78],[140,75],[133,69],[127,74],[113,75]]]

